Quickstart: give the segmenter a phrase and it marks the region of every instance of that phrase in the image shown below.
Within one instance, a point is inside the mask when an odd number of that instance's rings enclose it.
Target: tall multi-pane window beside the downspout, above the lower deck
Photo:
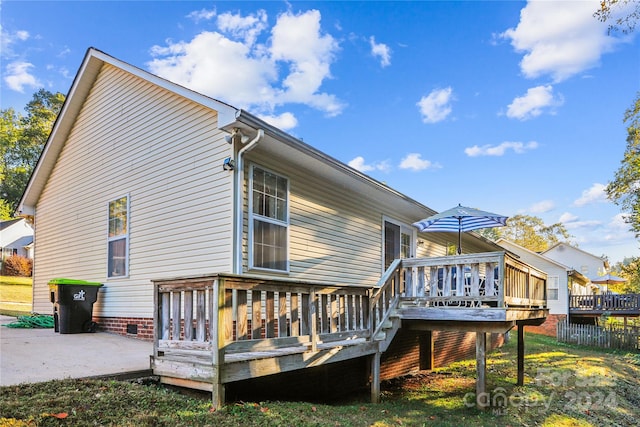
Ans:
[[[289,182],[252,165],[250,186],[250,268],[288,271]]]

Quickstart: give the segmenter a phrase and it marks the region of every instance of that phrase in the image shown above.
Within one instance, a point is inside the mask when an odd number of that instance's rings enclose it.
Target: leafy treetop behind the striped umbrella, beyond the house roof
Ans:
[[[514,215],[505,227],[480,230],[480,234],[490,240],[504,238],[533,252],[545,251],[571,238],[561,223],[546,225],[541,218],[529,215]]]

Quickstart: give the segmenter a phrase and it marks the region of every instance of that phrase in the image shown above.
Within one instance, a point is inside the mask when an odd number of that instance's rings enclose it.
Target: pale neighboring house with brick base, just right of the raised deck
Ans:
[[[575,268],[508,240],[500,239],[497,243],[506,250],[518,255],[520,261],[547,273],[547,307],[549,308],[549,315],[545,323],[537,328],[532,327],[531,330],[545,335],[556,336],[557,323],[566,319],[569,314],[569,294],[586,295],[591,293],[591,287],[588,286],[588,277]],[[569,253],[570,251],[563,250],[562,252]]]

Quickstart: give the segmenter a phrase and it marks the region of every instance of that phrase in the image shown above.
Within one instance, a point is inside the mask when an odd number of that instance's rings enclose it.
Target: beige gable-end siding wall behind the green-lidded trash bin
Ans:
[[[214,111],[105,65],[36,205],[34,310],[47,282],[104,283],[94,315],[150,318],[151,279],[229,272],[231,146]],[[107,278],[108,203],[129,196],[129,276]]]

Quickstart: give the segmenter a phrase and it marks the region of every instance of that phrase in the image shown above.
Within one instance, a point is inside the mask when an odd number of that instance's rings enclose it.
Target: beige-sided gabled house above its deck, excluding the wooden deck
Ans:
[[[36,221],[34,311],[52,311],[52,278],[97,281],[101,326],[135,324],[147,338],[153,279],[375,285],[394,258],[445,255],[456,240],[424,233],[418,245],[411,224],[432,209],[246,111],[95,49],[19,212]],[[501,250],[463,239],[467,253]]]

